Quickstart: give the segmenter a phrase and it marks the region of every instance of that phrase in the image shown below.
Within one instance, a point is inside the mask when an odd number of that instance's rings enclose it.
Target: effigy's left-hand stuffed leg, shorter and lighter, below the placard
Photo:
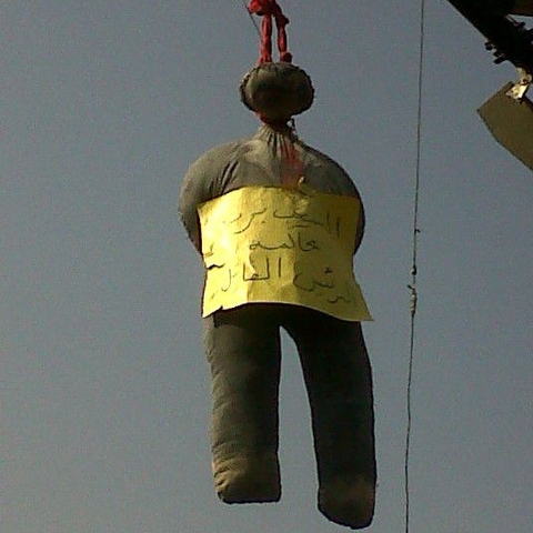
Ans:
[[[276,502],[281,348],[279,326],[262,305],[205,319],[211,365],[212,467],[225,503]]]

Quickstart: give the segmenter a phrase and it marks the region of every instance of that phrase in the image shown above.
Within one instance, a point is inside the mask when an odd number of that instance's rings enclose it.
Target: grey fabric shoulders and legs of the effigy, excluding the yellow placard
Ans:
[[[280,184],[283,134],[262,127],[252,138],[217,147],[192,164],[181,190],[180,212],[198,250],[200,203],[241,187]],[[359,198],[335,162],[293,142],[309,187]],[[363,229],[364,217],[354,250]],[[319,509],[333,522],[354,529],[369,525],[376,469],[372,375],[361,324],[272,303],[218,311],[204,319],[203,326],[212,379],[213,473],[221,500],[280,499],[278,390],[283,328],[296,344],[311,405]]]

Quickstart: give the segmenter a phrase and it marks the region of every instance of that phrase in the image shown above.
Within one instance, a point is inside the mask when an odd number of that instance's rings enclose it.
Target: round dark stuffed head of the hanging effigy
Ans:
[[[263,122],[286,123],[313,103],[311,78],[299,67],[280,61],[262,63],[241,82],[241,100]]]

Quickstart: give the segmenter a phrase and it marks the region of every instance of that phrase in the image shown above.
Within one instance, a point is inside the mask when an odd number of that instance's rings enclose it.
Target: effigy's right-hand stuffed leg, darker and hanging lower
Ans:
[[[332,522],[370,525],[375,502],[372,371],[359,322],[313,311],[288,328],[311,403],[319,509]],[[312,324],[312,325],[311,325]]]

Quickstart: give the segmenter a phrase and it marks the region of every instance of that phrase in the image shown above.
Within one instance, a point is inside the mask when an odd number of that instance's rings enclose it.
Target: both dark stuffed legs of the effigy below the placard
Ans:
[[[227,503],[281,495],[281,328],[296,344],[311,405],[319,507],[334,522],[366,526],[376,469],[372,373],[361,324],[296,305],[249,304],[204,319],[217,492]]]

